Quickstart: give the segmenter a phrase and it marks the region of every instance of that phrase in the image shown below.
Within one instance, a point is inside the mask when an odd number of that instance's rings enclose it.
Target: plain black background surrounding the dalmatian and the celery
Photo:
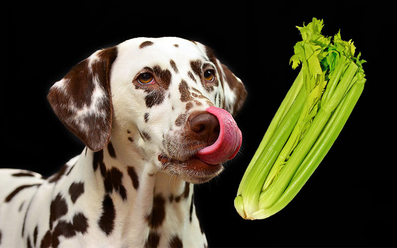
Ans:
[[[178,36],[215,50],[246,85],[236,118],[243,132],[225,172],[196,186],[197,214],[210,247],[394,247],[396,99],[391,6],[347,2],[257,5],[189,1],[14,3],[6,8],[0,167],[46,176],[83,144],[53,114],[51,85],[97,49],[134,37]],[[366,86],[330,152],[298,195],[265,219],[243,220],[233,200],[245,168],[295,79],[288,64],[296,25],[323,18],[362,53]],[[5,55],[4,55],[5,54]]]

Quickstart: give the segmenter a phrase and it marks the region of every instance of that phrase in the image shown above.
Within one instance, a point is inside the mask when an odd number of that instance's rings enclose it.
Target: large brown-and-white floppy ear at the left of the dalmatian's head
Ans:
[[[47,96],[61,122],[93,151],[102,149],[110,139],[110,70],[116,57],[116,47],[95,52],[71,68]]]

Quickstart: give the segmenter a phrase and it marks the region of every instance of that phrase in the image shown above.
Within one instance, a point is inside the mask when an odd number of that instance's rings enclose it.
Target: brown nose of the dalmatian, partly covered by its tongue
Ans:
[[[219,136],[218,119],[206,112],[194,112],[188,118],[189,134],[192,140],[213,144]]]

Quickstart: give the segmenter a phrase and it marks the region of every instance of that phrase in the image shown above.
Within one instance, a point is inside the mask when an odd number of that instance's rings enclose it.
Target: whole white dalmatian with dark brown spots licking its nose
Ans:
[[[198,42],[95,52],[48,94],[82,153],[49,178],[0,170],[0,248],[207,247],[193,186],[238,152],[246,94]]]

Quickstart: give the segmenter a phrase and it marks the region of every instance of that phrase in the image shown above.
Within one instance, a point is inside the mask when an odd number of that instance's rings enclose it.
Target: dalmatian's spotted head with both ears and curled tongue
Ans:
[[[232,115],[246,94],[209,48],[164,37],[95,52],[51,87],[48,100],[91,150],[120,143],[123,153],[138,150],[158,169],[201,183],[238,151]]]

